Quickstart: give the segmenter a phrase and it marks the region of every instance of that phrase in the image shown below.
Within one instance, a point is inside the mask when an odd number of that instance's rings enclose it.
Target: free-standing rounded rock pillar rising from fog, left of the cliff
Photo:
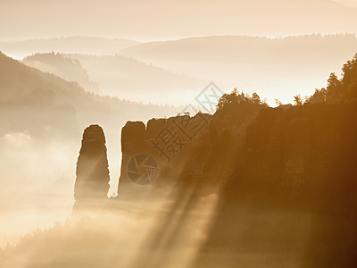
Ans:
[[[109,170],[103,129],[91,125],[84,130],[77,162],[73,212],[100,206],[109,190]]]

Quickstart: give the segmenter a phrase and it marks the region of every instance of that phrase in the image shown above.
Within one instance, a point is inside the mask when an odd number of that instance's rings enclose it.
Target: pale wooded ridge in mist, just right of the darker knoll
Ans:
[[[81,63],[90,80],[98,83],[100,92],[137,102],[184,104],[191,101],[209,82],[121,55],[65,56]]]

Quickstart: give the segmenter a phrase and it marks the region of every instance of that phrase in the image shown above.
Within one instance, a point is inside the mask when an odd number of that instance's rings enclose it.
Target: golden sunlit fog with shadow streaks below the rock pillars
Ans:
[[[165,228],[168,212],[174,200],[150,202],[120,202],[110,213],[96,214],[95,218],[56,223],[48,230],[37,230],[21,238],[17,247],[6,247],[1,252],[2,264],[15,267],[188,267],[193,263],[198,248],[207,236],[207,222],[217,198],[204,199],[195,208],[190,224],[180,227],[181,239],[165,239],[171,231],[162,234],[162,246],[154,235]],[[180,217],[182,211],[175,213]],[[133,236],[133,234],[135,234]],[[185,236],[190,237],[187,243]],[[32,245],[29,247],[29,245]],[[21,256],[20,256],[21,255]],[[20,257],[19,257],[20,256]]]

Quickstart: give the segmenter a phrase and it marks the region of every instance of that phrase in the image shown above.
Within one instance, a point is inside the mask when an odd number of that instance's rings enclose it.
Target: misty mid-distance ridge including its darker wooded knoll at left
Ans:
[[[33,54],[22,63],[76,81],[87,91],[146,103],[184,104],[208,83],[120,55]]]

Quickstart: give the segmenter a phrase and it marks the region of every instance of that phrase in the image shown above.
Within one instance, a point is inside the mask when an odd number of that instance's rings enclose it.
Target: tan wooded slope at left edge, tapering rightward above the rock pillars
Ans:
[[[169,109],[168,114],[177,113],[176,108],[168,105],[140,105],[135,102],[120,100],[119,98],[98,96],[86,92],[76,82],[69,82],[53,74],[30,68],[4,54],[1,54],[0,60],[0,87],[2,88],[0,96],[3,108],[24,105],[24,107],[35,106],[46,109],[46,107],[53,107],[55,105],[70,105],[76,110],[75,117],[79,122],[100,120],[102,114],[99,114],[99,112],[106,112],[108,114],[104,119],[105,121],[111,116],[118,116],[118,113],[122,116],[128,115],[130,118],[133,115],[135,116],[135,114],[145,113],[145,110],[138,112],[137,109],[133,109],[131,111],[134,107],[142,107],[147,109],[147,112],[153,107],[154,110],[157,109],[155,113],[164,111],[165,109]],[[108,113],[109,111],[112,111],[115,115]],[[6,114],[6,116],[9,115],[11,113]],[[94,118],[91,119],[91,116],[94,116]],[[16,120],[12,122],[15,123]],[[19,123],[19,125],[21,124]]]

